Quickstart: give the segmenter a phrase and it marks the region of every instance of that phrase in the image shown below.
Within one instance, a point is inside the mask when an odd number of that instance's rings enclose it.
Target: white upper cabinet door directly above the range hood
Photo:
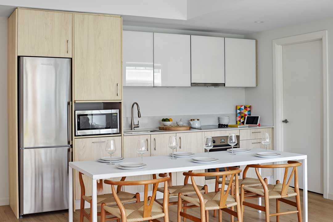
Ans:
[[[191,83],[224,83],[224,38],[191,36]]]

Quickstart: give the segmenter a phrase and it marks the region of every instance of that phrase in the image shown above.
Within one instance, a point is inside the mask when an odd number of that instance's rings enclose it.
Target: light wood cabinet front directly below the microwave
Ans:
[[[122,156],[122,137],[94,137],[94,138],[76,138],[74,141],[74,161],[96,160],[103,156],[109,156],[105,151],[107,140],[114,139],[116,141],[116,152],[113,156]],[[107,165],[105,165],[107,167]],[[92,184],[91,178],[82,175],[85,184],[86,195],[91,195]],[[120,178],[111,178],[111,180],[120,180]],[[103,183],[104,193],[112,193],[111,185]],[[79,172],[75,170],[75,199],[81,198],[81,187],[79,182]]]

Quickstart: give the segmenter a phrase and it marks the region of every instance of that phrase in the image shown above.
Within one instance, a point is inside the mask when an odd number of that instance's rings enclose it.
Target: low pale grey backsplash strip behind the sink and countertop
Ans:
[[[227,115],[230,118],[229,124],[236,123],[236,114],[235,113],[223,113],[223,114],[196,114],[196,115],[170,115],[170,116],[141,116],[138,118],[137,112],[134,112],[136,115],[134,116],[134,123],[137,124],[139,120],[140,128],[142,129],[151,129],[158,128],[163,125],[161,122],[162,118],[172,118],[172,125],[176,125],[176,121],[182,119],[184,125],[189,125],[190,119],[200,119],[201,125],[217,125],[218,117],[222,115]],[[124,129],[131,128],[131,117],[123,118],[123,126]]]

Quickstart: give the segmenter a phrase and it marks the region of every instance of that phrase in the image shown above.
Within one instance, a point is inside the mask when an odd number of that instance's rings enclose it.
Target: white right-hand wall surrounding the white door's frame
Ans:
[[[245,89],[245,103],[253,105],[253,112],[259,114],[262,124],[273,124],[273,65],[272,65],[272,40],[294,36],[304,33],[328,30],[328,72],[329,72],[329,112],[333,110],[333,18],[304,23],[297,26],[284,27],[280,29],[258,32],[246,35],[245,38],[258,40],[258,75],[259,86]],[[311,104],[310,104],[311,105]],[[296,118],[296,116],[295,116]],[[331,115],[329,135],[331,142],[329,150],[333,148],[333,118]],[[333,159],[333,152],[329,152],[330,159]],[[333,169],[333,161],[330,161],[329,169]],[[329,171],[329,184],[333,184],[333,170]],[[330,186],[328,193],[333,198],[333,186]]]

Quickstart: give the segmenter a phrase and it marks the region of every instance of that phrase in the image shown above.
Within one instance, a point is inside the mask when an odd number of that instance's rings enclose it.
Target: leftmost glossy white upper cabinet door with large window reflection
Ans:
[[[123,86],[154,86],[154,35],[123,31]]]

